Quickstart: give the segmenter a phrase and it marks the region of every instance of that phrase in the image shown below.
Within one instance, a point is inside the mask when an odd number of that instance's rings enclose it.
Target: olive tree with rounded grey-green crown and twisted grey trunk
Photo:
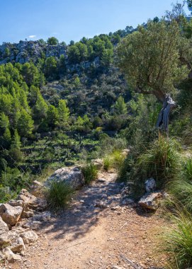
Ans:
[[[181,36],[176,20],[149,21],[123,38],[117,48],[118,67],[128,84],[137,92],[153,94],[162,103],[157,127],[168,132],[169,113],[176,107],[171,98],[176,85],[188,76],[187,64],[181,61]],[[184,54],[182,54],[184,55]]]

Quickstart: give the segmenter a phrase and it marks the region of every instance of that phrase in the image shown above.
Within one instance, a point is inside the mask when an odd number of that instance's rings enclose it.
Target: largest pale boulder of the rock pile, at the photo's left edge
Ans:
[[[20,206],[12,207],[12,205],[9,204],[0,205],[0,216],[9,226],[13,226],[18,222],[22,211],[23,207]]]

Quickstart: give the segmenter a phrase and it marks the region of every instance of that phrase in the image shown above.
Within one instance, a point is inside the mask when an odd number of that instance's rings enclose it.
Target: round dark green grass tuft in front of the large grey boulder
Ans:
[[[62,210],[67,207],[73,193],[74,190],[69,184],[63,181],[52,181],[46,193],[48,206],[52,210]]]

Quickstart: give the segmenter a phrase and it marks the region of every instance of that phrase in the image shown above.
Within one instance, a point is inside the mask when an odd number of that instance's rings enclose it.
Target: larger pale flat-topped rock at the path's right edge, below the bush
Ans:
[[[163,198],[163,194],[159,191],[155,193],[146,193],[139,201],[139,205],[149,210],[157,210],[159,201]]]

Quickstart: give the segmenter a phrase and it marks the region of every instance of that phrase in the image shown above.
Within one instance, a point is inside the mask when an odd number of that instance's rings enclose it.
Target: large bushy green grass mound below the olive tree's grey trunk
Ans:
[[[120,167],[118,181],[132,181],[135,198],[145,193],[144,182],[147,178],[154,178],[157,188],[164,188],[166,183],[177,178],[180,171],[180,156],[176,149],[179,145],[174,139],[160,136],[140,156],[128,155]]]

